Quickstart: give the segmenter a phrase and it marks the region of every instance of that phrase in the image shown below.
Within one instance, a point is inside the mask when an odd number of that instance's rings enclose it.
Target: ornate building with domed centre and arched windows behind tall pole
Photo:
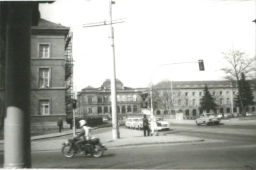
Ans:
[[[116,80],[117,114],[141,114],[141,94],[147,88],[129,88]],[[77,94],[79,116],[103,116],[111,114],[111,81],[103,82],[100,88],[87,86]]]

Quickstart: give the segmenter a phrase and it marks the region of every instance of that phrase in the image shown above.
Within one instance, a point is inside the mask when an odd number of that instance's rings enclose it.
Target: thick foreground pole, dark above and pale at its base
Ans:
[[[31,2],[9,2],[6,38],[4,168],[31,168]]]

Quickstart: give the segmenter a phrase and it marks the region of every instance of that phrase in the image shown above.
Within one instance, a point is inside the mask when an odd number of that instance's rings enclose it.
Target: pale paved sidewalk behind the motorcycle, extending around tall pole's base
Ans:
[[[93,129],[92,133],[97,131],[97,128]],[[188,143],[203,141],[197,137],[187,137],[183,135],[161,135],[159,136],[147,136],[144,137],[142,130],[119,128],[120,138],[113,140],[112,131],[95,134],[95,137],[99,138],[107,148],[114,147],[127,147],[127,146],[139,146],[148,144],[160,144],[160,143]],[[54,139],[54,137],[67,136],[66,139]],[[31,137],[31,150],[32,151],[61,151],[62,143],[69,137],[73,136],[73,131],[64,131],[61,133],[51,133],[48,135],[40,135]],[[49,139],[47,141],[39,141],[38,139]],[[3,141],[0,141],[0,152],[3,152]]]

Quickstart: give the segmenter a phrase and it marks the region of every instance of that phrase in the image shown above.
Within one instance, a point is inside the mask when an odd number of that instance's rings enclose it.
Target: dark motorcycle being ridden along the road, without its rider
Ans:
[[[72,137],[62,144],[61,151],[65,157],[74,157],[75,154],[80,153],[75,145],[76,141],[77,139]],[[107,147],[99,141],[99,138],[93,138],[87,141],[87,143],[80,143],[79,145],[85,151],[85,155],[91,155],[93,157],[101,157],[104,151],[107,150]]]

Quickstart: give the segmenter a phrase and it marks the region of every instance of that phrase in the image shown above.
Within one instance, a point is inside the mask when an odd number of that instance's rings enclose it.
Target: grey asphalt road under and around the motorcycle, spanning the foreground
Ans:
[[[95,133],[107,130],[111,129]],[[107,150],[100,158],[76,155],[68,159],[60,151],[33,152],[32,165],[61,169],[256,169],[256,126],[175,125],[161,133],[189,135],[205,141],[119,147]],[[0,167],[2,158],[0,153]]]

